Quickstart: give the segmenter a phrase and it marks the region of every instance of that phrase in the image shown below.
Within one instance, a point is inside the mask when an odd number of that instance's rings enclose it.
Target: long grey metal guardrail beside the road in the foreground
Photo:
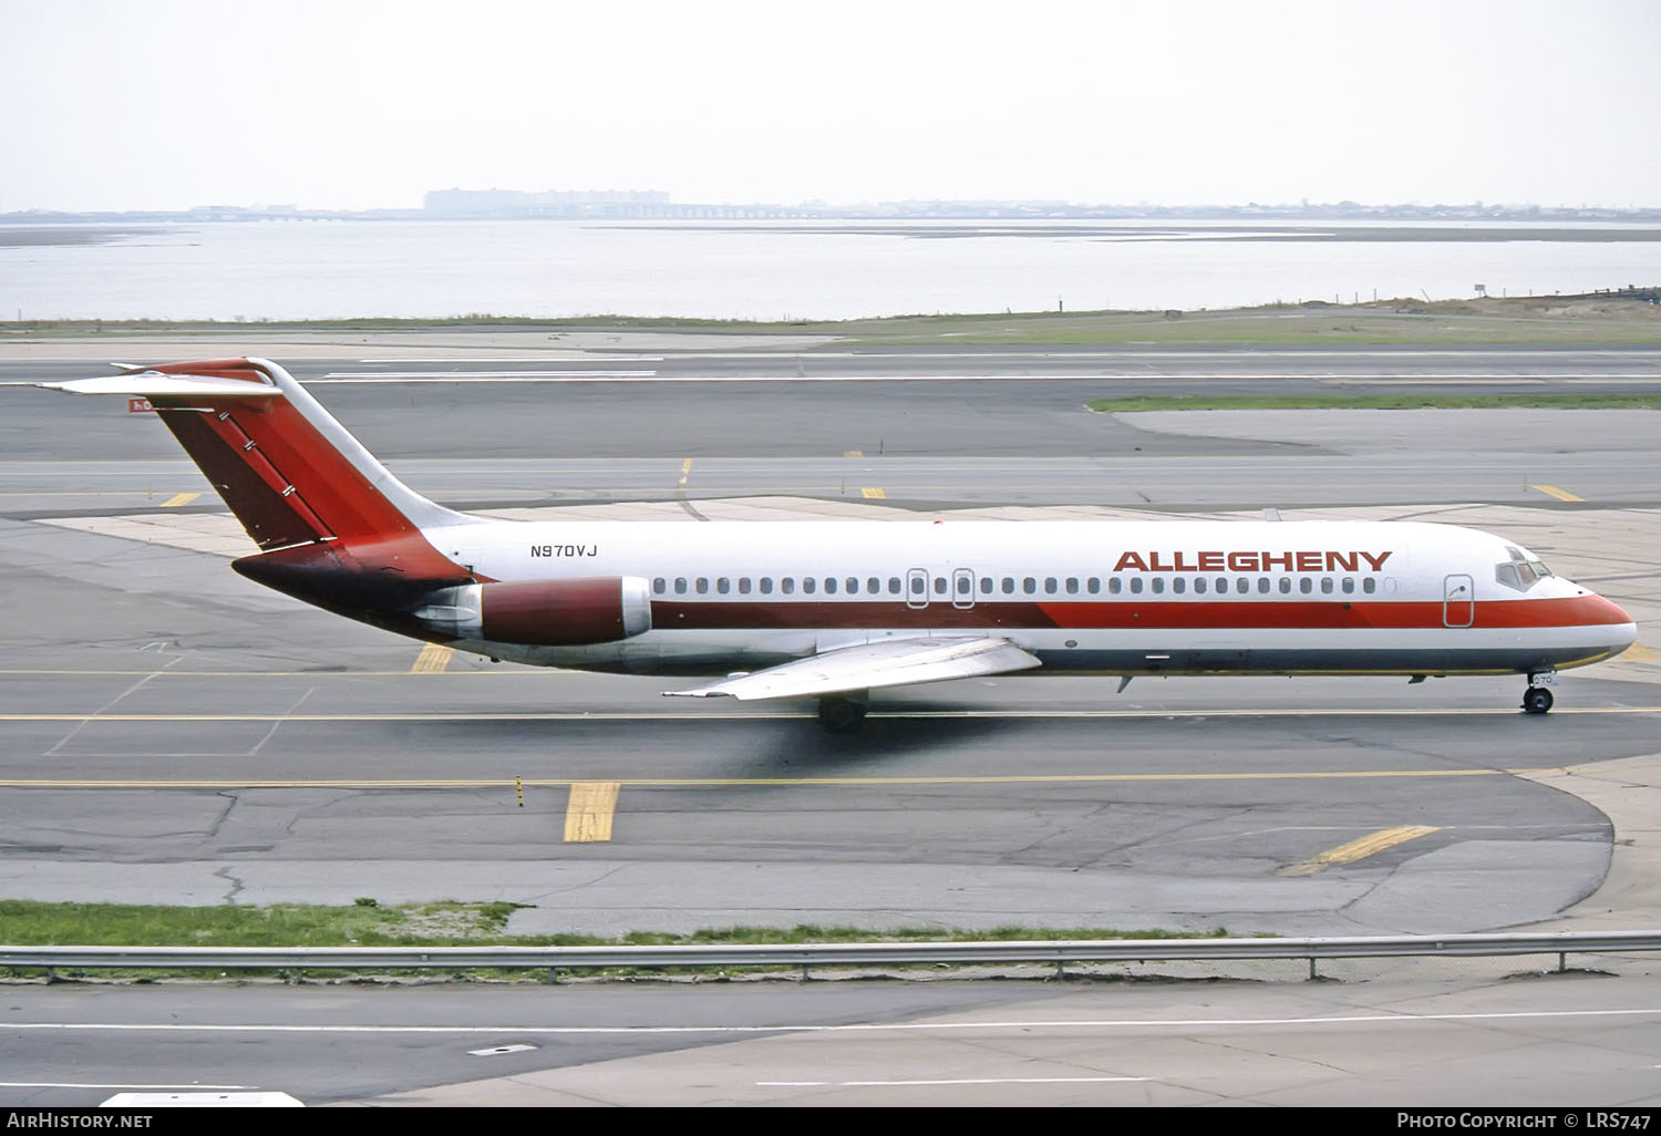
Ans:
[[[0,967],[158,970],[598,970],[611,967],[915,967],[1633,953],[1661,930],[1359,938],[1103,938],[933,943],[693,943],[669,947],[7,947]]]

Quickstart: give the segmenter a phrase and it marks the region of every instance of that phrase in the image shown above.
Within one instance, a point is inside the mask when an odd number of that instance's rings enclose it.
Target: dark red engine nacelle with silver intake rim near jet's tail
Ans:
[[[651,588],[641,576],[463,585],[427,596],[415,618],[457,639],[615,643],[651,631]]]

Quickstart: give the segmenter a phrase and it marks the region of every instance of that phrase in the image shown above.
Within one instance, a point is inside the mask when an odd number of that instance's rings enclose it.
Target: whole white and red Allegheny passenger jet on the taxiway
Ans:
[[[1515,541],[1409,521],[510,521],[399,482],[282,367],[216,359],[33,385],[146,399],[259,551],[243,576],[362,623],[538,666],[817,698],[1036,671],[1526,676],[1636,641]]]

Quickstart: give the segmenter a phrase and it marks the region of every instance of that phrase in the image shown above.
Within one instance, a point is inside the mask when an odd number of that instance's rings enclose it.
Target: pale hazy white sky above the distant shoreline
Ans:
[[[0,0],[0,213],[1661,206],[1661,0]]]

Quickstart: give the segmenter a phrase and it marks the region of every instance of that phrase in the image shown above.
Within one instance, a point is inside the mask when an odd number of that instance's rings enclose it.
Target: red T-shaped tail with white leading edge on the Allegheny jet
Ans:
[[[241,575],[296,600],[432,638],[414,611],[437,588],[475,583],[422,533],[480,518],[399,482],[282,367],[211,359],[35,384],[145,399],[247,530]]]

